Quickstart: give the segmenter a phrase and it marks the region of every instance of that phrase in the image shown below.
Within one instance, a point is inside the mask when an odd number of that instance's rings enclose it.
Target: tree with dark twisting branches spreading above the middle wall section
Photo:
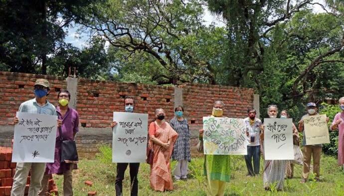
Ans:
[[[203,9],[197,0],[108,0],[82,23],[94,35],[129,55],[147,53],[164,69],[152,76],[159,84],[206,81],[215,84],[212,64],[197,56],[198,48],[189,45],[209,43],[202,36],[214,28],[201,23]],[[193,49],[196,49],[194,51]]]

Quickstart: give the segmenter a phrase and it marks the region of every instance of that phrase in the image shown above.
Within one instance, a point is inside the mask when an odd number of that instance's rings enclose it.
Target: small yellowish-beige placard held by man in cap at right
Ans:
[[[329,128],[325,114],[306,116],[303,120],[306,145],[330,143]]]

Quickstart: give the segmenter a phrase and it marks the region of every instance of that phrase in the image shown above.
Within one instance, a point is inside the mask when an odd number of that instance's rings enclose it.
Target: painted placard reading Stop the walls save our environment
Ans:
[[[246,127],[241,118],[203,117],[204,154],[247,155]]]

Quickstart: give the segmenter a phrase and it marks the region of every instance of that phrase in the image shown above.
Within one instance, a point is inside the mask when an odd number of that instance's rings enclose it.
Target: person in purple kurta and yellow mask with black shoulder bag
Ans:
[[[58,94],[59,106],[56,107],[58,119],[62,121],[61,132],[63,140],[74,140],[75,134],[78,132],[79,114],[78,112],[68,107],[70,99],[70,93],[66,90],[62,90]],[[72,170],[77,169],[76,164],[73,163],[61,163],[61,141],[60,133],[56,133],[56,145],[55,145],[55,162],[47,163],[45,174],[42,179],[42,189],[40,196],[44,196],[47,188],[47,182],[51,174],[63,174],[63,195],[72,196]]]

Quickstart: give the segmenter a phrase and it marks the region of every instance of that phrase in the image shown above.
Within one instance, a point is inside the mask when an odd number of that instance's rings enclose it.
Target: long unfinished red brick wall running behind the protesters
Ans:
[[[13,137],[12,117],[21,102],[31,99],[36,79],[44,78],[50,82],[49,101],[57,105],[57,93],[67,88],[65,78],[23,73],[0,72],[0,146],[10,146]],[[202,127],[202,117],[211,114],[213,102],[225,103],[224,115],[245,117],[248,107],[253,106],[253,90],[217,85],[183,84],[180,85],[182,102],[191,130],[192,155],[197,156],[195,144],[198,129]],[[111,144],[112,132],[109,124],[113,111],[124,111],[124,96],[135,98],[135,112],[148,113],[149,121],[154,118],[156,108],[164,108],[166,118],[174,116],[174,87],[161,87],[134,83],[116,83],[79,79],[77,81],[76,109],[79,112],[79,134],[76,138],[81,157],[93,157],[100,143]]]

